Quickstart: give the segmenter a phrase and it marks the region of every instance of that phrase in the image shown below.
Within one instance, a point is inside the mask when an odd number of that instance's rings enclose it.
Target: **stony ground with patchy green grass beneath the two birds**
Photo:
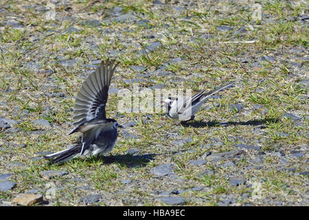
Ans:
[[[16,186],[0,191],[0,203],[14,206],[16,195],[32,190],[43,206],[84,205],[90,195],[100,195],[92,205],[108,206],[163,205],[168,196],[187,206],[308,206],[308,1],[259,5],[1,1],[0,117],[14,121],[0,128],[0,175],[12,173],[6,180]],[[122,22],[122,14],[134,17]],[[240,83],[185,126],[161,113],[120,115],[111,94],[108,116],[135,126],[119,131],[106,157],[49,166],[42,155],[78,137],[66,135],[74,96],[95,61],[108,56],[120,61],[113,88],[132,89],[130,79],[143,88],[183,83],[194,93]],[[127,153],[132,148],[137,155]],[[205,161],[194,165],[198,159]],[[172,174],[156,177],[161,164]],[[45,179],[43,170],[67,175]]]

